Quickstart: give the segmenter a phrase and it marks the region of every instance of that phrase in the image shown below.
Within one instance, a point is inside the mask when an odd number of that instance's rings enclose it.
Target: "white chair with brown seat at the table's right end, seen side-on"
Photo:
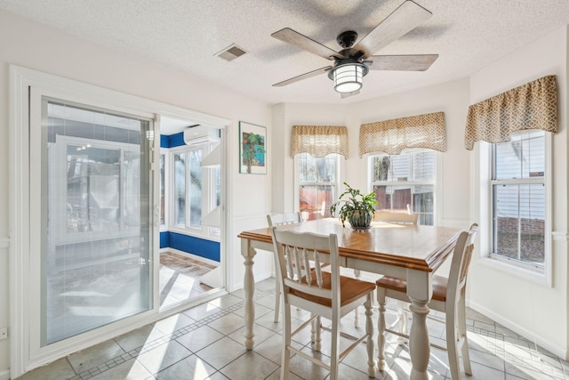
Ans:
[[[459,364],[459,350],[462,353],[462,362],[464,364],[464,372],[472,375],[470,368],[469,344],[466,333],[466,306],[465,292],[466,279],[469,270],[469,263],[474,250],[474,239],[476,238],[478,225],[472,224],[469,231],[462,231],[459,239],[454,247],[451,270],[449,277],[440,277],[433,275],[433,296],[429,302],[429,309],[445,312],[446,327],[446,349],[448,352],[448,361],[451,368],[451,376],[453,380],[460,380],[461,370]],[[377,300],[380,303],[380,319],[378,322],[378,341],[380,347],[380,356],[378,366],[381,370],[385,367],[385,356],[383,349],[385,347],[385,332],[389,331],[397,336],[408,336],[398,332],[389,330],[385,326],[385,303],[386,298],[395,298],[399,301],[409,303],[407,297],[407,283],[402,279],[395,279],[384,276],[378,279]]]

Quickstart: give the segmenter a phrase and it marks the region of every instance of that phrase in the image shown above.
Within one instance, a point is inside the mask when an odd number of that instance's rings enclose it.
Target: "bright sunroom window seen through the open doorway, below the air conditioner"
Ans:
[[[202,226],[202,218],[220,203],[219,167],[201,166],[211,150],[210,143],[172,150],[174,227],[219,235],[219,229],[210,231]]]

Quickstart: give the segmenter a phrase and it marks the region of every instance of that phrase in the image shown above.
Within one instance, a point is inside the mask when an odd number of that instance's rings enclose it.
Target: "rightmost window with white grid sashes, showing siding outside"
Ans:
[[[492,145],[492,253],[542,271],[546,257],[546,141],[541,130]]]

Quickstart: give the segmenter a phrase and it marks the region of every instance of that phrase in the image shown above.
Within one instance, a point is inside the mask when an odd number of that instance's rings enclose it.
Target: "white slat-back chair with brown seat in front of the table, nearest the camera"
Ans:
[[[289,377],[291,352],[312,361],[330,371],[330,379],[338,378],[340,361],[358,344],[366,341],[369,376],[375,376],[373,358],[373,320],[372,295],[375,285],[370,282],[340,276],[338,239],[336,235],[316,235],[310,232],[279,230],[271,227],[276,271],[281,282],[283,298],[283,349],[281,360],[281,379]],[[325,253],[321,255],[321,253]],[[309,261],[314,269],[309,268]],[[330,271],[322,271],[321,265],[330,262]],[[308,270],[307,270],[308,269]],[[358,304],[365,304],[365,334],[359,338],[341,334],[340,319],[353,311]],[[291,307],[300,307],[311,313],[311,318],[291,331]],[[320,318],[332,320],[332,347],[330,364],[317,359],[309,353],[293,347],[292,336],[309,324],[312,326],[312,349],[320,351]],[[354,339],[343,352],[340,352],[340,336]]]

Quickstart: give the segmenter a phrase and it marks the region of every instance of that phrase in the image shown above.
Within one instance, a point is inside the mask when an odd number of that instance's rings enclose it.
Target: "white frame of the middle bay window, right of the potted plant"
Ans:
[[[419,153],[422,151],[432,151],[435,153],[435,179],[434,181],[373,181],[373,158],[381,157],[381,156],[395,156],[389,155],[386,153],[376,153],[376,154],[368,154],[367,156],[367,183],[369,184],[369,191],[373,191],[373,186],[401,186],[402,184],[415,186],[415,185],[432,185],[435,194],[433,195],[433,224],[434,225],[441,225],[441,212],[440,207],[442,205],[441,198],[443,194],[442,189],[442,182],[443,182],[443,154],[437,150],[429,150],[429,149],[421,149],[421,148],[414,148],[414,149],[405,149],[401,152],[401,154],[408,154],[408,153]],[[380,205],[381,208],[381,205]]]

